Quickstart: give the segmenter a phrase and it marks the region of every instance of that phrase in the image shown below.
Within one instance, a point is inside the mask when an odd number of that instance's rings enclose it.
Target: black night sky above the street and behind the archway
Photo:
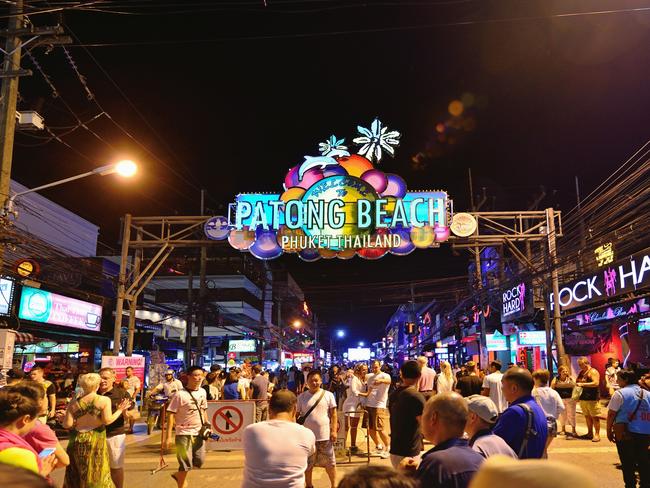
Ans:
[[[153,3],[175,4],[174,13],[151,15]],[[69,52],[98,103],[60,48],[37,48],[60,96],[35,72],[21,80],[19,109],[37,109],[56,134],[105,111],[148,150],[102,116],[88,124],[98,137],[83,127],[63,137],[74,150],[17,136],[13,177],[36,186],[119,156],[138,161],[130,183],[94,178],[44,193],[100,225],[100,240],[115,248],[124,213],[197,214],[201,188],[215,214],[239,192],[279,192],[287,169],[319,142],[351,142],[375,116],[403,134],[381,169],[410,190],[447,190],[457,211],[469,209],[468,168],[475,193],[488,196],[482,210],[524,210],[540,186],[540,208],[569,210],[574,176],[586,195],[648,138],[650,11],[556,16],[643,2],[268,4],[122,0],[96,8],[147,15],[66,11],[78,39]],[[28,58],[23,66],[34,69]],[[458,117],[454,100],[465,102]],[[445,246],[374,262],[282,258],[308,290],[457,276],[468,259]],[[394,308],[353,299],[323,303],[323,320],[351,340],[374,339]]]

